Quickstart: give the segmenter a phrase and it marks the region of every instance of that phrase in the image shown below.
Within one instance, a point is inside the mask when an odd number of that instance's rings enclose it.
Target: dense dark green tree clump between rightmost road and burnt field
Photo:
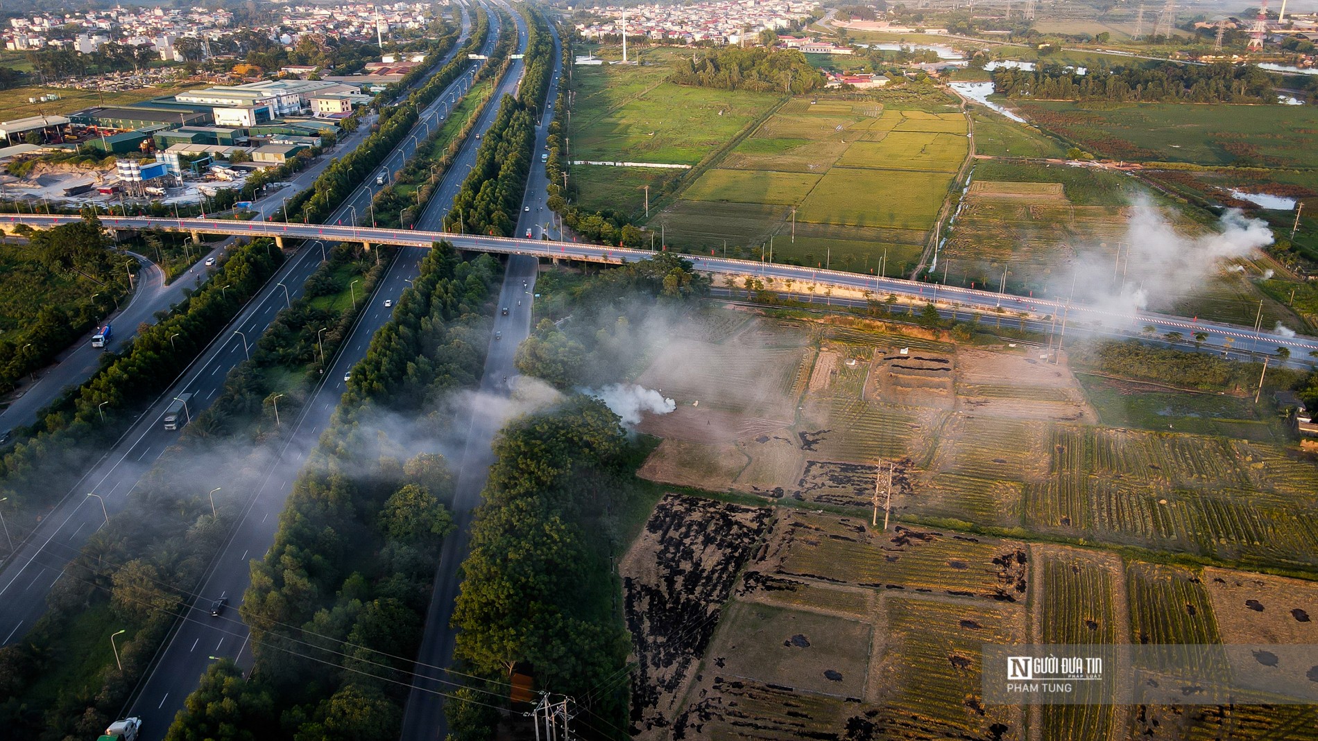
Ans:
[[[609,679],[629,649],[610,563],[614,513],[638,494],[629,447],[618,416],[580,395],[509,425],[494,441],[453,605],[464,671],[509,683],[519,667],[538,690],[572,695],[613,725],[625,725],[627,707],[627,684]],[[445,711],[453,741],[493,737],[494,708],[449,700]]]

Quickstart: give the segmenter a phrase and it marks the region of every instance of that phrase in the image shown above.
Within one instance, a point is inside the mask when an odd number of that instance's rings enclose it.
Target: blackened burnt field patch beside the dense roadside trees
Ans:
[[[721,605],[771,517],[770,509],[668,495],[619,565],[639,737],[667,737]]]

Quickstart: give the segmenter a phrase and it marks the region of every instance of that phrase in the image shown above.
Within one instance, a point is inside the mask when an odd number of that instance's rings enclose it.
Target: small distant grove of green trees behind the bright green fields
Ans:
[[[800,95],[824,87],[824,75],[796,49],[725,46],[680,59],[668,78],[684,86]]]

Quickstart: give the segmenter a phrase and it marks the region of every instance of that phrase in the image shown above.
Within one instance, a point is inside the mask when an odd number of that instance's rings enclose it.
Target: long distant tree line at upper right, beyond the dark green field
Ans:
[[[1169,103],[1276,103],[1280,76],[1255,64],[1173,64],[1097,67],[1081,74],[1057,63],[1037,70],[1002,68],[994,92],[1041,100]]]

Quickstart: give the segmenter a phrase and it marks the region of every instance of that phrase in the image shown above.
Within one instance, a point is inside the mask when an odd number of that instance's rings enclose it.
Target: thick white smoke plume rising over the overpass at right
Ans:
[[[1222,261],[1272,243],[1268,224],[1239,209],[1223,213],[1215,232],[1190,236],[1178,232],[1148,199],[1133,205],[1116,263],[1111,255],[1089,254],[1075,266],[1075,284],[1083,287],[1078,297],[1114,313],[1128,315],[1151,303],[1172,308],[1205,288]]]

